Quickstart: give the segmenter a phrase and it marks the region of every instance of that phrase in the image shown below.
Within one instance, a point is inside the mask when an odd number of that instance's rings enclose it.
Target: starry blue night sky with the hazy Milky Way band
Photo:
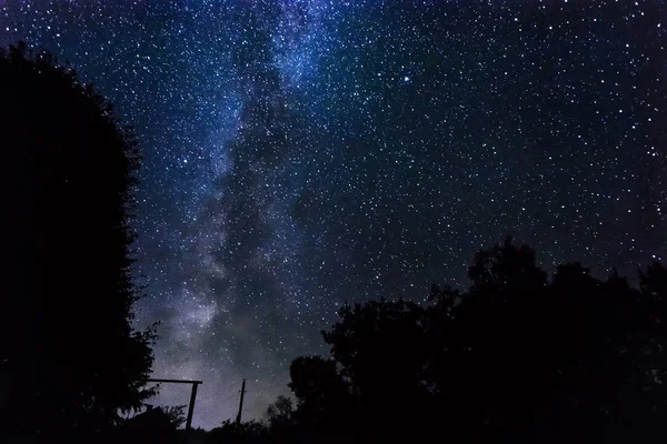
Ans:
[[[138,320],[156,377],[203,380],[195,426],[243,377],[260,417],[344,301],[467,285],[506,233],[549,271],[665,253],[663,1],[0,0],[18,40],[136,128]]]

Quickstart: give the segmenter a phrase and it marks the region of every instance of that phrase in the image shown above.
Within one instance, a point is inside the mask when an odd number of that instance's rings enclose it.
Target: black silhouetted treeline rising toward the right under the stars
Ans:
[[[466,292],[345,305],[329,356],[297,357],[266,423],[211,442],[643,442],[667,414],[667,270],[638,287],[579,263],[548,279],[526,245],[481,251]]]

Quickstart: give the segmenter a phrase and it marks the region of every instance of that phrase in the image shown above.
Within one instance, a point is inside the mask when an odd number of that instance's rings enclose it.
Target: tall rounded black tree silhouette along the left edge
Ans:
[[[49,53],[0,52],[0,433],[99,428],[138,407],[155,331],[128,225],[137,143],[111,105]]]

